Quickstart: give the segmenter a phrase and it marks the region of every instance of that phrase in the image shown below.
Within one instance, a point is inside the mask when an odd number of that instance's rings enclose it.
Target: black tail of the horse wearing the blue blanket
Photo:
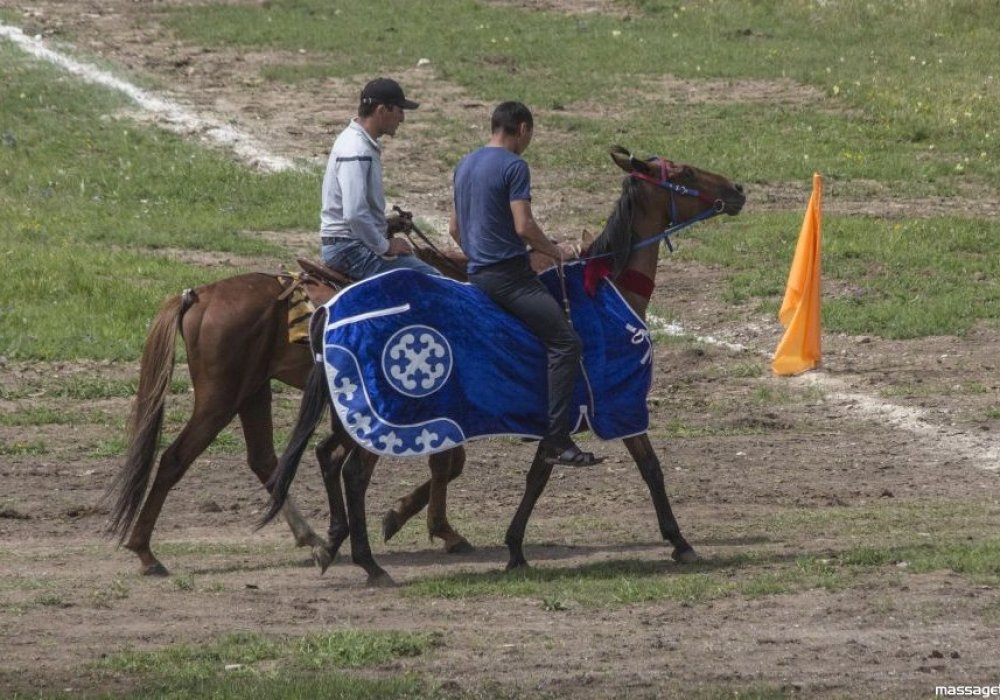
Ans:
[[[313,352],[322,348],[323,329],[326,327],[326,310],[317,309],[310,320],[309,339]],[[271,505],[264,517],[257,524],[260,529],[274,520],[274,517],[281,511],[288,498],[288,490],[292,486],[295,472],[299,468],[299,462],[309,444],[309,438],[316,432],[316,426],[323,419],[326,407],[330,403],[330,390],[326,383],[326,368],[322,360],[314,361],[312,369],[309,371],[309,378],[306,380],[306,387],[302,392],[302,402],[299,404],[299,416],[292,429],[292,436],[288,440],[288,446],[278,460],[278,467],[267,482],[267,488],[271,492]]]

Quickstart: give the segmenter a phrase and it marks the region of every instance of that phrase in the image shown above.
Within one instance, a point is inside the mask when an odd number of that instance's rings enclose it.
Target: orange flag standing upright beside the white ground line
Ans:
[[[820,349],[820,224],[823,218],[823,176],[813,173],[813,193],[795,245],[785,299],[778,318],[785,335],[774,351],[771,369],[778,375],[799,374],[819,366]]]

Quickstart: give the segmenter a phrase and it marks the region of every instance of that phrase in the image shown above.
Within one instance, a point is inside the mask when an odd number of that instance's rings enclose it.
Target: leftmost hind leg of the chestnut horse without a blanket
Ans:
[[[231,411],[199,410],[196,406],[184,429],[163,451],[160,464],[156,470],[156,478],[149,489],[149,494],[142,504],[139,517],[135,521],[132,533],[125,543],[125,548],[139,557],[140,572],[145,576],[167,576],[165,566],[153,555],[149,543],[153,536],[153,528],[160,517],[163,504],[170,492],[191,463],[212,443],[233,419]]]

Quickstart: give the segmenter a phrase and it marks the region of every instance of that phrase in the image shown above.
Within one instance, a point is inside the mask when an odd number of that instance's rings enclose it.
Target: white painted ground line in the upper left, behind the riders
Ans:
[[[191,109],[115,77],[97,66],[83,63],[66,54],[47,48],[39,37],[30,37],[17,27],[0,22],[0,37],[32,56],[53,63],[84,80],[103,85],[128,96],[144,111],[149,112],[162,128],[185,136],[197,135],[218,146],[232,150],[244,163],[266,172],[297,170],[295,161],[268,153],[250,136],[230,124],[198,115]]]

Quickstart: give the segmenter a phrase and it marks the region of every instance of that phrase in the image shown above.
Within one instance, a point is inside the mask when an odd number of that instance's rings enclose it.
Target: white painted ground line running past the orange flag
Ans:
[[[658,316],[649,314],[648,325],[655,333],[663,333],[670,336],[680,336],[692,338],[693,340],[706,345],[715,345],[735,352],[751,351],[750,348],[739,343],[729,343],[711,336],[699,336],[686,331],[677,323],[668,322]],[[769,353],[759,352],[764,357],[770,357]],[[974,438],[967,433],[960,433],[949,430],[945,426],[933,423],[925,411],[916,408],[907,408],[898,404],[882,401],[867,394],[859,394],[851,391],[844,382],[820,372],[807,372],[798,377],[790,378],[790,381],[800,384],[810,384],[818,386],[824,391],[828,400],[841,405],[851,407],[852,415],[858,415],[870,420],[878,421],[890,425],[899,430],[905,430],[923,440],[928,440],[944,451],[961,454],[972,461],[980,469],[987,471],[1000,470],[1000,446],[996,441],[985,438]]]

